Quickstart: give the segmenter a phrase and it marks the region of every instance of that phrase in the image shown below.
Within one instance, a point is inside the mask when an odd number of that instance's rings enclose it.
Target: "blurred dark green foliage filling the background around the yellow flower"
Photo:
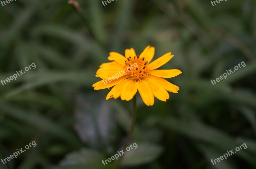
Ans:
[[[103,169],[102,160],[122,149],[131,123],[131,102],[106,101],[95,74],[111,51],[137,53],[156,47],[155,58],[174,57],[164,69],[180,87],[167,102],[138,118],[124,168],[256,168],[256,1],[17,0],[0,5],[0,80],[31,63],[16,81],[0,84],[0,143],[17,169]],[[225,70],[246,67],[212,85]],[[138,95],[139,96],[139,95]],[[139,96],[140,97],[140,96]],[[246,143],[247,149],[212,165]],[[0,163],[0,168],[5,166]]]

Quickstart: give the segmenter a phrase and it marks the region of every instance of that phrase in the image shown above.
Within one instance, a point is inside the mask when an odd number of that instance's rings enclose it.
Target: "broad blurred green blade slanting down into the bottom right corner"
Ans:
[[[194,140],[203,143],[212,144],[212,146],[219,150],[226,152],[233,150],[239,144],[234,141],[234,138],[224,133],[221,130],[207,126],[199,121],[183,122],[173,117],[171,118],[158,118],[156,122],[171,130],[174,130],[182,135],[190,137]],[[256,165],[255,160],[246,151],[241,151],[235,154],[236,156],[244,159],[252,166]]]

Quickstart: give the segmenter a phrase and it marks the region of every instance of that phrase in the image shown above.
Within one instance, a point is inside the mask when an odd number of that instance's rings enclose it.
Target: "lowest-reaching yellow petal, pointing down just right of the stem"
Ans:
[[[146,81],[138,81],[137,82],[138,90],[140,92],[140,96],[143,102],[147,106],[152,106],[154,104],[154,95]]]

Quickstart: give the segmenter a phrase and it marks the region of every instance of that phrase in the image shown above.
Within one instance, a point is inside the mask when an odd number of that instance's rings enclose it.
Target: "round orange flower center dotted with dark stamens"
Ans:
[[[145,58],[140,58],[140,55],[127,58],[124,69],[127,73],[124,76],[136,81],[146,80],[148,78],[148,61]]]

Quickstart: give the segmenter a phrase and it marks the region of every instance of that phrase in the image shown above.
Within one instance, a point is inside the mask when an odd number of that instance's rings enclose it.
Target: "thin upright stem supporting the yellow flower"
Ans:
[[[132,134],[133,134],[134,126],[135,126],[135,121],[136,121],[136,94],[134,95],[134,97],[132,99],[132,124],[131,124],[131,129],[130,129],[130,132],[128,134],[128,137],[126,138],[123,150],[126,150],[126,147],[128,146],[129,142],[132,139]],[[123,158],[124,158],[124,155],[121,156],[120,159],[117,161],[115,169],[118,169],[118,167],[121,164]]]

